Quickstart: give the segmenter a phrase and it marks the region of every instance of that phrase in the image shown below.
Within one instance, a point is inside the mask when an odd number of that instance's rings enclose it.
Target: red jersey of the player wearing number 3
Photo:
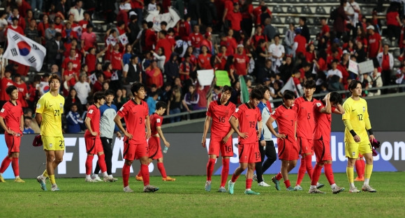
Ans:
[[[132,134],[130,140],[133,140],[135,144],[146,143],[145,118],[147,118],[148,114],[147,103],[140,101],[140,104],[137,104],[135,100],[126,102],[117,113],[118,116],[124,118],[126,132]]]

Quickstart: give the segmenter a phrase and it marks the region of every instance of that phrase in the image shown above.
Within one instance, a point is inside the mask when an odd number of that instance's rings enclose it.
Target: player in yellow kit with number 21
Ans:
[[[52,74],[49,77],[50,91],[42,95],[36,104],[35,120],[40,125],[43,150],[46,155],[46,169],[36,180],[40,188],[47,190],[45,182],[49,176],[51,191],[59,191],[55,182],[54,169],[62,162],[65,152],[64,135],[62,134],[62,114],[64,114],[65,98],[59,95],[61,78]]]

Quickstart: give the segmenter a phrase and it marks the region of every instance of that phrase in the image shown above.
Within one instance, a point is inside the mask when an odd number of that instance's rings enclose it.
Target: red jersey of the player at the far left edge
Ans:
[[[20,101],[16,101],[17,104],[13,104],[10,101],[3,105],[0,110],[0,116],[4,119],[6,126],[13,130],[14,132],[22,134],[20,130],[21,116],[24,114],[22,112],[22,107]]]

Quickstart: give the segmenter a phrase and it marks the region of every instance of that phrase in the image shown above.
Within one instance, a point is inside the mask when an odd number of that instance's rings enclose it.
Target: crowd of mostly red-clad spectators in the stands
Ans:
[[[47,78],[57,73],[66,97],[65,131],[80,132],[91,93],[113,91],[120,108],[131,99],[129,88],[135,81],[147,85],[150,113],[158,100],[168,103],[168,115],[207,108],[218,100],[221,87],[216,79],[212,86],[200,86],[197,70],[226,70],[233,86],[230,100],[235,104],[240,104],[239,77],[244,77],[248,88],[270,86],[272,99],[281,98],[280,91],[291,77],[295,85],[316,80],[318,93],[347,90],[352,79],[362,81],[364,95],[386,92],[367,91],[371,87],[405,84],[401,1],[391,1],[385,14],[377,8],[368,17],[356,1],[340,0],[330,16],[315,24],[321,26],[315,38],[307,17],[286,24],[287,31],[280,35],[267,1],[254,5],[252,0],[3,0],[1,105],[8,100],[6,86],[15,84],[27,128],[38,132],[32,119],[36,101],[49,89]],[[168,28],[171,21],[163,21],[161,30],[155,31],[154,23],[145,18],[156,10],[168,13],[170,7],[179,14],[179,22]],[[111,28],[96,29],[93,18],[97,16]],[[381,20],[387,28],[383,29]],[[41,73],[29,77],[28,66],[3,58],[8,29],[45,46]],[[392,46],[399,48],[398,55],[392,55]],[[394,68],[395,59],[399,68]],[[350,60],[372,60],[374,71],[355,74],[348,70]]]

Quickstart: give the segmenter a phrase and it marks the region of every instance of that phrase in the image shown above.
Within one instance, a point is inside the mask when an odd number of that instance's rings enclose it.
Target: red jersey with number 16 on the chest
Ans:
[[[209,103],[207,116],[212,117],[211,125],[211,138],[223,138],[230,131],[230,123],[228,122],[230,116],[235,111],[236,106],[233,102],[226,102],[221,104],[221,100],[216,100]]]

